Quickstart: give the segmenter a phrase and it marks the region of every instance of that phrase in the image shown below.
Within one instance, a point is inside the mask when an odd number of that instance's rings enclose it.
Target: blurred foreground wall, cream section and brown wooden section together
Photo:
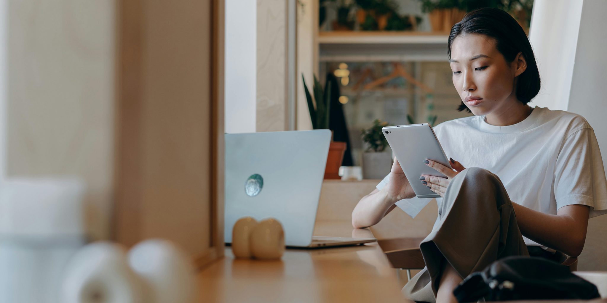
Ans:
[[[8,1],[6,175],[78,176],[87,234],[223,254],[223,0]]]

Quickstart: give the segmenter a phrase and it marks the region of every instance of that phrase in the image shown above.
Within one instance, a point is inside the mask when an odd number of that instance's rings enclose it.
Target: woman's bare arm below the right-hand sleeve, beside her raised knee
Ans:
[[[588,229],[589,207],[567,205],[549,215],[512,202],[521,234],[546,247],[577,257],[582,253]]]

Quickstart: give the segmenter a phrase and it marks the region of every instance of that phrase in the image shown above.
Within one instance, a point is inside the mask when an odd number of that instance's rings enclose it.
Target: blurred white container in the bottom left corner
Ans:
[[[59,302],[58,277],[86,241],[83,197],[75,179],[0,184],[0,302]]]

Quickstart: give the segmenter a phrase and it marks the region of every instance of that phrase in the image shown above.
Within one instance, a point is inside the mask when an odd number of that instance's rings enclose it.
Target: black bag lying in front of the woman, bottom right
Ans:
[[[471,273],[453,290],[458,302],[594,299],[599,290],[569,271],[569,267],[543,258],[511,256]]]

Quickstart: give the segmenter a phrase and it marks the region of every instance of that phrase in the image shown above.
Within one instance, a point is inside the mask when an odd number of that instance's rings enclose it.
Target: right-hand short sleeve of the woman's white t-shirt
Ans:
[[[591,208],[590,218],[607,213],[607,181],[599,143],[592,128],[583,128],[565,139],[554,173],[557,210],[582,204]]]

